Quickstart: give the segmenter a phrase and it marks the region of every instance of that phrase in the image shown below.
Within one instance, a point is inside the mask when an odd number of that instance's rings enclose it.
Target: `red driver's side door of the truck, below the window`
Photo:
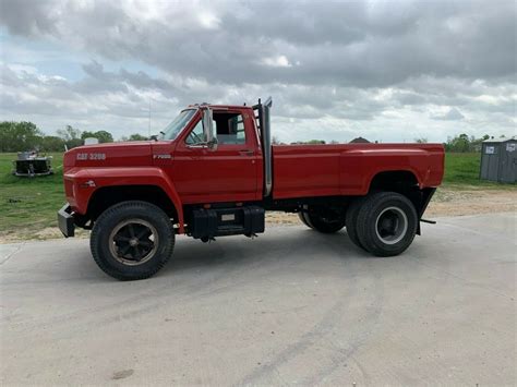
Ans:
[[[211,150],[203,141],[201,114],[181,138],[173,155],[171,174],[184,204],[245,202],[258,199],[262,182],[257,168],[261,155],[248,113],[214,110],[218,146]]]

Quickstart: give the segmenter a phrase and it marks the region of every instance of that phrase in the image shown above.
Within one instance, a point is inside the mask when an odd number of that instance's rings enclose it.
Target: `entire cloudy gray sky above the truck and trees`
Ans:
[[[516,134],[515,1],[0,4],[0,120],[47,133],[270,95],[285,142]]]

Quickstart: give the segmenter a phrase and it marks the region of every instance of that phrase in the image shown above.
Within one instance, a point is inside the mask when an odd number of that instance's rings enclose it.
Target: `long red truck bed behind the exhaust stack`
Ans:
[[[405,171],[419,186],[442,182],[442,144],[274,145],[273,197],[364,195],[380,171]]]

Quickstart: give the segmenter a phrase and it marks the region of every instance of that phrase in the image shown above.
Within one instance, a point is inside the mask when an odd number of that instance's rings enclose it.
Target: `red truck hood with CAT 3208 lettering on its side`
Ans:
[[[64,154],[63,168],[151,166],[151,141],[135,141],[79,146]]]

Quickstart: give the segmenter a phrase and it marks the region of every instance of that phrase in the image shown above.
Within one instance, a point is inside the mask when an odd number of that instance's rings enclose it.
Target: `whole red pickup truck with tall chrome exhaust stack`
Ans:
[[[159,140],[67,152],[60,230],[91,229],[95,262],[121,280],[156,274],[176,234],[254,237],[266,210],[324,233],[346,227],[374,255],[404,252],[442,182],[443,146],[272,145],[270,107],[193,105]]]

